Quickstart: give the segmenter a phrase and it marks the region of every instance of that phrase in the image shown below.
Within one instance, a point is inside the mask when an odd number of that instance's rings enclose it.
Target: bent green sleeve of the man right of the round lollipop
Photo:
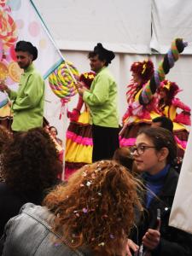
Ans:
[[[106,76],[100,76],[95,81],[93,91],[84,91],[84,102],[89,106],[99,106],[108,100],[109,79]]]

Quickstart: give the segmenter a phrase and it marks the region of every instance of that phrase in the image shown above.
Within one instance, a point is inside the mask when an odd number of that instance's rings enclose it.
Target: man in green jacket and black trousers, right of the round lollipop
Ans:
[[[117,84],[108,70],[114,58],[113,51],[97,44],[88,55],[90,68],[96,72],[90,90],[77,84],[79,95],[90,108],[92,118],[92,160],[110,159],[119,148],[119,116],[117,106]]]

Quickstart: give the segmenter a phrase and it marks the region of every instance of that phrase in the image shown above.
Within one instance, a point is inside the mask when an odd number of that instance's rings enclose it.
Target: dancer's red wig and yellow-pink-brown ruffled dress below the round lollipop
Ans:
[[[95,77],[95,73],[81,74],[79,81],[90,89],[90,84]],[[80,113],[84,105],[83,113]],[[84,103],[82,96],[73,112],[67,113],[71,122],[67,129],[66,155],[65,155],[65,178],[77,171],[81,166],[92,163],[92,131],[90,125],[90,110]]]

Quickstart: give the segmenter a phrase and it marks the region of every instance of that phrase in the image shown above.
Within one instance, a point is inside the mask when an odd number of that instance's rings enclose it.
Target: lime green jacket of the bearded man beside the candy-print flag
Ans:
[[[28,131],[43,126],[44,79],[33,64],[21,75],[19,90],[11,90],[9,97],[13,101],[13,131]]]

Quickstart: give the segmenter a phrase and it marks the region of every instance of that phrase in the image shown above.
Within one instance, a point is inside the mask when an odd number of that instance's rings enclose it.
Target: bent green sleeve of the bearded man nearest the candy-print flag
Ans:
[[[21,85],[22,86],[22,85]],[[18,94],[13,105],[14,110],[24,110],[34,108],[44,95],[44,82],[42,78],[36,74],[32,74],[23,84],[25,87],[22,96]],[[22,88],[20,88],[22,90]]]

